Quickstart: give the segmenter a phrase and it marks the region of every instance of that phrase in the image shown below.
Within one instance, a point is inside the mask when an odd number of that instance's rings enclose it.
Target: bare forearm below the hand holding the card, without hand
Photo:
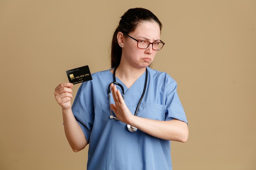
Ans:
[[[79,150],[85,148],[85,146],[88,144],[85,139],[83,130],[77,123],[71,108],[63,108],[62,114],[67,141],[69,142],[72,150],[74,152],[78,152]]]

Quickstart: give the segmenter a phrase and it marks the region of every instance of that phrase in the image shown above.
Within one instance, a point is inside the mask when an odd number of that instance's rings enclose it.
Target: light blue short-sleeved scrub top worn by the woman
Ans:
[[[187,123],[176,82],[164,72],[147,69],[146,92],[137,116],[155,120],[175,118]],[[146,73],[129,89],[116,77],[124,86],[124,101],[131,113],[135,113],[143,93],[145,77]],[[81,84],[72,106],[89,143],[87,170],[172,170],[170,141],[139,129],[129,132],[126,124],[109,118],[108,85],[111,82],[110,70],[92,74],[91,81]],[[111,103],[114,103],[112,94]]]

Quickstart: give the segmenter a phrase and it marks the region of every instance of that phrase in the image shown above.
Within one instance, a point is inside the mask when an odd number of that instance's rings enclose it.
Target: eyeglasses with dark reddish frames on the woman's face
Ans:
[[[124,35],[127,35],[126,33],[124,33]],[[137,41],[137,47],[139,49],[147,49],[148,46],[150,44],[152,44],[152,49],[153,50],[161,50],[164,46],[164,42],[162,42],[160,40],[160,42],[149,42],[149,41],[146,41],[146,40],[136,40],[135,38],[131,37],[130,35],[127,35],[128,37],[130,37],[131,39]]]

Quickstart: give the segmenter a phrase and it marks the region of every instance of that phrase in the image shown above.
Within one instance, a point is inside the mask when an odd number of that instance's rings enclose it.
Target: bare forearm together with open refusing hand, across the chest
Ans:
[[[129,108],[126,106],[121,93],[117,91],[116,86],[113,84],[111,84],[111,91],[115,104],[111,104],[110,107],[120,121],[160,139],[181,142],[187,141],[189,137],[189,129],[188,125],[184,121],[177,119],[159,121],[132,115]]]

